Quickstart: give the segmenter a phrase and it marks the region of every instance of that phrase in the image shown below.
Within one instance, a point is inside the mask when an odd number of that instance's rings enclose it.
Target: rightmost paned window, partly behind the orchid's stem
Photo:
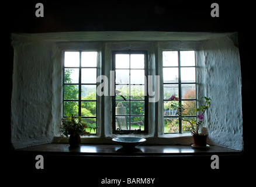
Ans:
[[[178,102],[185,109],[184,117],[195,118],[196,64],[195,51],[163,51],[164,133],[189,132],[188,122],[179,119]],[[174,95],[179,101],[169,101]],[[173,105],[172,105],[173,104]]]

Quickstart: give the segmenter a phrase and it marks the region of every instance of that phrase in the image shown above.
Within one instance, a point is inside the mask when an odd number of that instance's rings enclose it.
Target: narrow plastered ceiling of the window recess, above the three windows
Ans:
[[[202,41],[230,33],[207,32],[61,32],[34,33],[29,36],[51,41]]]

